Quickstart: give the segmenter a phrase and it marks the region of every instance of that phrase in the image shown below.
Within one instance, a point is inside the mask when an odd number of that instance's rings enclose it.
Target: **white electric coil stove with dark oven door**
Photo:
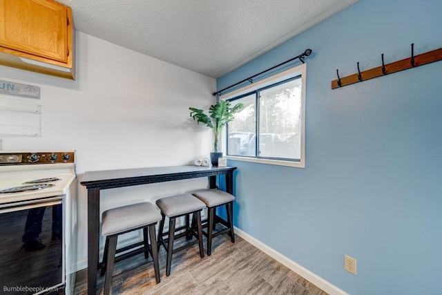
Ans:
[[[0,232],[8,236],[0,239],[0,248],[8,252],[0,256],[0,264],[6,266],[0,269],[3,291],[73,293],[77,271],[74,151],[0,151]],[[21,271],[9,272],[12,268]]]

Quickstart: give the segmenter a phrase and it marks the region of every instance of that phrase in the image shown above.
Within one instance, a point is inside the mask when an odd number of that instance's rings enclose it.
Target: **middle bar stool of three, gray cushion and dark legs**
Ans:
[[[200,256],[201,258],[204,257],[204,247],[202,245],[201,210],[204,209],[206,205],[191,194],[184,193],[182,195],[161,198],[157,200],[157,206],[161,209],[162,215],[160,228],[158,229],[158,247],[163,245],[164,249],[167,251],[166,276],[169,276],[171,274],[172,255],[178,251],[191,247],[198,242],[200,245]],[[193,214],[196,219],[198,234],[196,234],[191,228],[189,222],[191,214]],[[166,216],[169,218],[169,231],[163,233],[164,220],[166,219]],[[175,229],[176,218],[181,216],[186,216],[186,224]],[[182,231],[183,229],[184,232],[175,234],[175,231]],[[164,240],[163,236],[169,236],[169,238],[167,238],[167,242]],[[173,249],[173,241],[184,236],[186,236],[187,240],[191,240],[193,236],[198,238],[198,240],[187,242],[186,245]]]

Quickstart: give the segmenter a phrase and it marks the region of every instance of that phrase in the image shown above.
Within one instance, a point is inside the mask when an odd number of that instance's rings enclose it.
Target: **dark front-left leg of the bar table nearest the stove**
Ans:
[[[97,294],[99,189],[88,189],[88,295]]]

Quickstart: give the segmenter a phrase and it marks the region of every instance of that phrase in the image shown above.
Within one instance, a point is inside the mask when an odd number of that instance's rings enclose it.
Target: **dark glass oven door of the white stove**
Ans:
[[[0,293],[64,292],[63,196],[0,205]]]

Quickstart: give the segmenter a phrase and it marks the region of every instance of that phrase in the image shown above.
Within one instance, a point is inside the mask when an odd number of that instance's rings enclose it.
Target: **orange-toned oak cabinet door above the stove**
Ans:
[[[66,63],[67,13],[51,0],[0,0],[0,46]]]

